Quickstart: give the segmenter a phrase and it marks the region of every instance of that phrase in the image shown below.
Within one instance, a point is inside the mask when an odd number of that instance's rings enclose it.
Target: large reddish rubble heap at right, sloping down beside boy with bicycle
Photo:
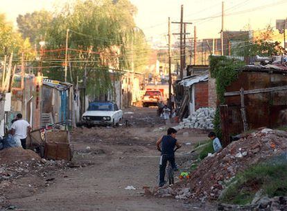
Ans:
[[[241,140],[232,142],[223,151],[208,156],[200,162],[189,180],[177,183],[173,192],[167,192],[178,199],[218,199],[225,185],[238,171],[243,171],[266,158],[279,155],[287,150],[287,133],[265,128],[245,135]],[[189,192],[187,189],[189,188]],[[155,190],[159,196],[160,189]],[[164,192],[166,194],[166,192]]]

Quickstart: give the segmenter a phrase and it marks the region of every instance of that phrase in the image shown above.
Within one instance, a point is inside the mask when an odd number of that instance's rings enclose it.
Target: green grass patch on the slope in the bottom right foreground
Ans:
[[[287,196],[286,158],[285,154],[279,155],[237,174],[220,201],[245,205],[252,202],[259,189],[270,197]]]

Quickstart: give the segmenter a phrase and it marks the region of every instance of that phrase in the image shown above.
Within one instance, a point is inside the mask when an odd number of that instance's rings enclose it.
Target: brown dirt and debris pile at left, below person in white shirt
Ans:
[[[21,147],[0,151],[0,210],[9,204],[15,192],[27,195],[55,181],[55,174],[75,164],[64,160],[41,159],[37,153]]]

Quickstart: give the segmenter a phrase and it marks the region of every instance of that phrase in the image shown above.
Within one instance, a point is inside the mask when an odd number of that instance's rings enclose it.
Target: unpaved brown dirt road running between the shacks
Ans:
[[[55,174],[49,187],[24,198],[15,195],[10,204],[19,210],[214,210],[200,203],[143,196],[143,186],[153,189],[158,182],[155,142],[164,132],[153,132],[163,126],[155,115],[153,108],[131,108],[124,116],[132,126],[76,128],[71,134],[73,160],[87,167]],[[184,143],[205,139],[203,133],[178,134],[181,152],[192,148]],[[128,185],[136,189],[125,189]]]

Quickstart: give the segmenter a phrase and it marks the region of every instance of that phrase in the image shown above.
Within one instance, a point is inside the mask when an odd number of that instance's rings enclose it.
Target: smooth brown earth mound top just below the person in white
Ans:
[[[27,160],[41,160],[37,153],[30,149],[23,149],[21,147],[12,147],[0,151],[0,163],[12,163],[17,161]]]

